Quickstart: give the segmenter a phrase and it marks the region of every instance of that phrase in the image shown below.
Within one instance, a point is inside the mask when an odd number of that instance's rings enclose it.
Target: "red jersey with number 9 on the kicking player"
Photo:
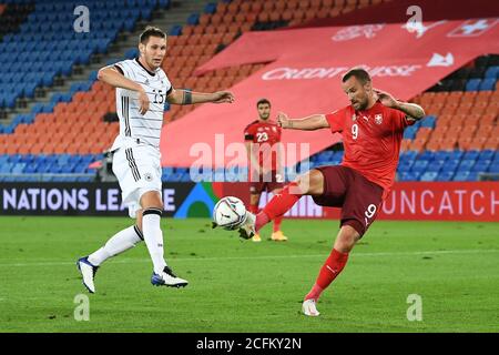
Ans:
[[[404,129],[409,121],[401,111],[376,102],[365,111],[352,105],[326,114],[333,133],[340,132],[345,154],[342,165],[355,169],[369,181],[385,189],[394,185]]]

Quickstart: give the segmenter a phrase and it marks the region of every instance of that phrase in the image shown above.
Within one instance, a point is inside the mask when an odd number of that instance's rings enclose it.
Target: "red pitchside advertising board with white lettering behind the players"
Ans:
[[[215,187],[218,195],[234,195],[248,202],[246,183]],[[263,207],[272,196],[264,193]],[[322,207],[310,196],[302,197],[286,217],[339,219],[339,209]],[[398,182],[377,220],[499,222],[499,182]]]

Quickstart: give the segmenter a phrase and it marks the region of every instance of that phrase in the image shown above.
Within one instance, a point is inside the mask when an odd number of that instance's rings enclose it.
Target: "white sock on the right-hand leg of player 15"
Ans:
[[[151,255],[154,272],[161,274],[166,262],[164,261],[163,251],[163,232],[161,231],[161,214],[159,209],[146,209],[142,214],[142,233]]]

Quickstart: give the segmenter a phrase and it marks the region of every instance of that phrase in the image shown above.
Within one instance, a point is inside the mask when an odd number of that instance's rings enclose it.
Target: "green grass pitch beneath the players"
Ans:
[[[144,244],[108,261],[85,294],[79,256],[131,224],[120,217],[0,217],[0,332],[499,332],[499,223],[377,221],[322,296],[301,302],[337,221],[284,221],[286,243],[240,241],[205,219],[162,222],[165,256],[186,288],[153,287]],[[409,322],[410,294],[422,321]]]

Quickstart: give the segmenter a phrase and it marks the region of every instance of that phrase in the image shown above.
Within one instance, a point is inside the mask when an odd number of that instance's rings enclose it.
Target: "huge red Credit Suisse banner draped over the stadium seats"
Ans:
[[[404,20],[404,14],[400,18]],[[292,118],[328,113],[348,104],[340,89],[342,74],[363,65],[370,71],[375,87],[408,100],[486,53],[499,53],[498,19],[441,20],[409,28],[406,23],[377,23],[244,33],[198,73],[272,63],[231,89],[236,98],[233,104],[204,104],[169,123],[163,130],[162,164],[190,166],[198,158],[195,144],[211,148],[222,165],[230,162],[226,150],[215,152],[215,136],[223,134],[225,145],[243,142],[243,130],[256,119],[255,104],[261,98],[271,100],[273,116],[278,111]],[[327,130],[283,134],[284,144],[309,144],[309,154],[338,140],[339,135]],[[213,163],[216,165],[215,159]],[[287,165],[294,163],[293,159],[286,161]]]

